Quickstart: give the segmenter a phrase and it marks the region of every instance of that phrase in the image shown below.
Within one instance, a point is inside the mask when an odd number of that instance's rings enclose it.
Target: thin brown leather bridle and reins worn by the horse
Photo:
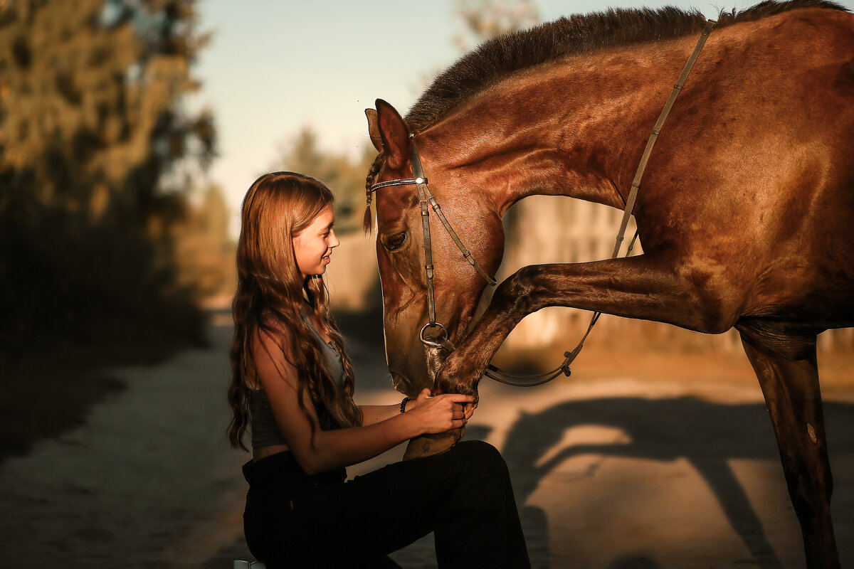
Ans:
[[[712,29],[717,24],[716,20],[706,20],[703,31],[700,32],[699,39],[697,40],[697,44],[694,46],[693,52],[688,57],[688,61],[685,64],[685,67],[682,69],[682,73],[679,76],[679,79],[676,81],[676,84],[673,86],[673,90],[670,92],[670,97],[668,97],[667,102],[664,103],[664,108],[661,111],[661,114],[658,116],[658,121],[656,121],[655,126],[652,128],[652,134],[649,136],[649,140],[646,142],[646,148],[644,149],[643,154],[640,156],[640,163],[638,164],[638,169],[635,171],[635,179],[632,182],[631,189],[629,190],[629,197],[626,199],[626,205],[623,210],[623,219],[620,222],[620,229],[617,231],[617,237],[614,241],[614,249],[611,253],[611,258],[617,258],[620,253],[620,248],[623,245],[624,235],[626,233],[626,228],[629,225],[629,218],[631,218],[632,211],[635,208],[635,200],[637,199],[638,190],[640,189],[640,178],[643,177],[643,172],[646,170],[646,163],[649,161],[650,154],[652,154],[652,147],[655,145],[656,140],[658,140],[658,135],[661,132],[661,128],[664,125],[664,120],[667,119],[667,115],[670,114],[670,109],[673,107],[674,102],[676,102],[676,97],[679,96],[679,93],[682,90],[682,86],[685,84],[687,80],[688,73],[691,73],[691,69],[693,68],[694,62],[697,61],[697,57],[699,56],[700,50],[703,49],[705,45],[705,40],[711,34]],[[410,186],[415,185],[418,189],[418,204],[421,207],[421,221],[423,225],[424,232],[424,272],[427,275],[427,316],[428,322],[424,324],[424,327],[421,328],[419,332],[419,338],[424,345],[429,345],[431,347],[441,348],[447,353],[451,353],[455,350],[455,347],[451,343],[448,338],[447,328],[442,325],[440,322],[436,322],[436,299],[433,294],[433,249],[430,245],[430,207],[436,212],[436,216],[442,221],[442,225],[445,227],[448,235],[451,236],[453,242],[456,244],[457,248],[459,248],[460,253],[463,253],[463,257],[465,260],[471,264],[472,267],[477,270],[480,276],[483,277],[483,280],[487,282],[487,284],[491,287],[495,286],[495,279],[491,276],[488,276],[486,271],[477,264],[477,261],[471,256],[471,253],[463,242],[460,241],[459,236],[451,227],[451,224],[448,223],[447,218],[442,213],[442,207],[439,206],[439,203],[436,201],[436,197],[430,193],[430,189],[427,187],[427,177],[424,177],[424,170],[421,167],[421,158],[418,156],[418,148],[415,146],[415,133],[410,133],[409,135],[410,143],[412,146],[412,178],[399,178],[395,180],[389,180],[387,182],[375,183],[371,186],[371,192],[377,191],[377,189],[388,188],[390,186]],[[430,207],[428,207],[430,206]],[[638,238],[638,232],[635,231],[635,236],[629,242],[629,248],[626,251],[626,257],[632,252],[632,249],[635,246],[635,241]],[[483,373],[484,376],[488,377],[491,380],[498,381],[500,383],[506,384],[508,386],[515,387],[533,387],[533,386],[541,386],[549,381],[555,379],[560,374],[564,374],[566,377],[569,377],[572,373],[570,369],[570,363],[574,362],[578,354],[581,353],[582,348],[584,347],[584,340],[587,340],[588,335],[593,330],[596,322],[599,321],[599,317],[601,316],[601,312],[594,312],[594,315],[590,318],[590,324],[588,325],[587,331],[582,336],[582,340],[578,342],[575,349],[572,351],[564,351],[564,361],[560,363],[560,365],[548,372],[543,374],[512,374],[510,372],[506,372],[492,363],[487,365],[486,371]],[[424,333],[428,328],[439,328],[439,334],[436,336],[427,336]]]

